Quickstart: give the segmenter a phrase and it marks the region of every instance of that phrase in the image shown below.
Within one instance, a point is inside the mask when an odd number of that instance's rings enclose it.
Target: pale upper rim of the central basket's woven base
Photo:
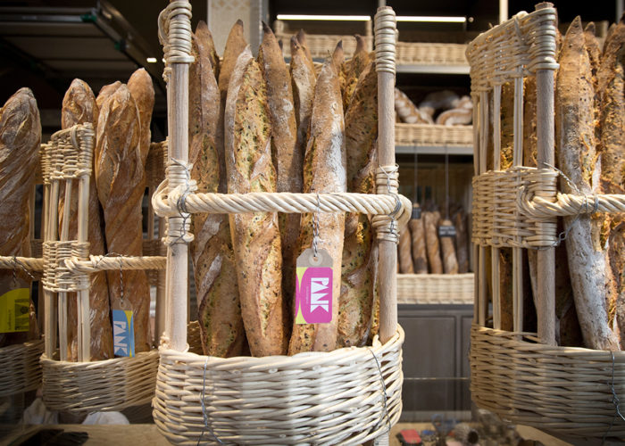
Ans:
[[[225,366],[232,363],[232,365],[241,364],[246,362],[248,366],[267,366],[268,364],[272,364],[278,366],[279,363],[288,363],[288,362],[298,362],[298,361],[309,361],[311,359],[325,359],[327,360],[330,356],[337,356],[341,358],[346,358],[347,356],[357,356],[358,354],[363,353],[364,351],[371,351],[376,355],[376,358],[379,358],[380,354],[383,354],[387,351],[395,350],[397,347],[401,347],[404,344],[404,328],[397,324],[396,334],[390,338],[387,343],[379,343],[378,335],[375,336],[373,340],[373,345],[368,345],[364,347],[342,347],[340,349],[336,349],[333,351],[303,351],[301,353],[296,353],[295,355],[271,355],[271,356],[234,356],[231,358],[221,358],[218,356],[207,356],[207,355],[199,355],[197,353],[193,353],[188,351],[189,345],[187,343],[187,349],[185,351],[175,351],[169,348],[166,348],[164,345],[159,347],[158,352],[160,356],[175,356],[176,360],[186,359],[188,361],[197,361],[203,360],[204,362],[210,362],[213,365]],[[75,364],[75,363],[72,363]]]

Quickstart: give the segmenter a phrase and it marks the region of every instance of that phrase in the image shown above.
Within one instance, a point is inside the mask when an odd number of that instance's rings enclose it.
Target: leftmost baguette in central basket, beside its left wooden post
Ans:
[[[198,23],[192,36],[196,62],[189,67],[189,162],[199,192],[225,193],[223,109],[212,67],[211,34]],[[246,339],[227,214],[194,214],[191,244],[197,319],[205,355],[242,353]]]

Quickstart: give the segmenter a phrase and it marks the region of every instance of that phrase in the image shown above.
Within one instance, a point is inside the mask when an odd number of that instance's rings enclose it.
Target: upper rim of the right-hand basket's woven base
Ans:
[[[505,330],[496,330],[495,328],[490,328],[489,326],[480,326],[475,322],[471,324],[471,331],[477,332],[479,334],[487,334],[496,337],[508,338],[508,342],[516,343],[523,348],[521,351],[539,351],[541,354],[553,354],[554,356],[562,356],[566,354],[571,354],[574,356],[587,356],[587,355],[595,355],[597,359],[598,357],[606,357],[612,362],[612,354],[614,355],[614,361],[617,359],[621,359],[625,362],[625,351],[609,351],[609,350],[593,350],[587,349],[586,347],[569,347],[562,345],[546,345],[544,343],[537,342],[537,333],[532,332],[509,332]],[[532,340],[536,340],[536,342],[529,342],[523,339],[514,339],[514,337],[521,336],[521,338],[529,338]],[[517,350],[517,349],[510,349]]]

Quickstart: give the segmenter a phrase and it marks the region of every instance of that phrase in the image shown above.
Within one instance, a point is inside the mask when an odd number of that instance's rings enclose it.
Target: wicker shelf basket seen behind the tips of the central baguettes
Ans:
[[[354,39],[354,35],[328,34],[328,23],[332,24],[333,27],[336,27],[333,29],[340,30],[343,33],[346,32],[346,26],[357,27],[354,28],[354,34],[358,33],[364,38],[365,42],[367,43],[368,51],[371,51],[373,49],[371,21],[275,21],[273,29],[275,29],[276,31],[276,38],[282,39],[282,52],[287,58],[291,57],[291,37],[294,36],[300,29],[304,29],[307,33],[306,43],[314,59],[323,60],[327,58],[329,54],[332,54],[332,51],[334,51],[334,47],[337,45],[339,40],[343,41],[343,50],[345,51],[346,58],[352,57],[356,50],[356,40]],[[315,29],[315,26],[323,26],[323,29]]]

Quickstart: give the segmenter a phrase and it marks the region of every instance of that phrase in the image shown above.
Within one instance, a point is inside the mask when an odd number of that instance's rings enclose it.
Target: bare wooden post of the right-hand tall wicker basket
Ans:
[[[536,9],[551,8],[553,4],[537,4]],[[554,165],[554,70],[536,71],[536,133],[537,164]],[[555,345],[555,256],[554,248],[537,252],[537,319],[538,340]]]

